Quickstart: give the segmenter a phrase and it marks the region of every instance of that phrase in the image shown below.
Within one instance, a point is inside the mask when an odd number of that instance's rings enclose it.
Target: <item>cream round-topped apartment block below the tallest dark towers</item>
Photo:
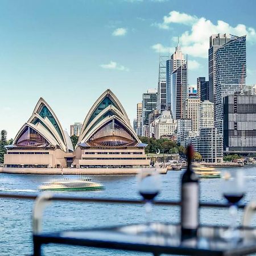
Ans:
[[[210,101],[200,103],[199,129],[214,127],[214,104]]]

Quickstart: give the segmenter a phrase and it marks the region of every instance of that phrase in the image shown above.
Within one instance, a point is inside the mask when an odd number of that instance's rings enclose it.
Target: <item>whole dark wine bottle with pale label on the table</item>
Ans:
[[[181,238],[195,237],[199,225],[199,178],[191,162],[193,147],[187,147],[188,167],[181,178]]]

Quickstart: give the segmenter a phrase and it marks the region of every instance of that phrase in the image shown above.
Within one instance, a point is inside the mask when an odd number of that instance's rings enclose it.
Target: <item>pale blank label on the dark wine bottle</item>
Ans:
[[[181,226],[185,229],[196,229],[199,220],[198,183],[183,184],[181,195]]]

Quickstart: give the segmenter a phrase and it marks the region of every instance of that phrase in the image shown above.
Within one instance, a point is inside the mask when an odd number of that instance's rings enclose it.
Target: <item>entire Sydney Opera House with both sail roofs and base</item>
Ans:
[[[31,117],[7,146],[5,169],[11,168],[142,168],[150,160],[129,118],[111,90],[86,115],[75,148],[55,113],[40,98]]]

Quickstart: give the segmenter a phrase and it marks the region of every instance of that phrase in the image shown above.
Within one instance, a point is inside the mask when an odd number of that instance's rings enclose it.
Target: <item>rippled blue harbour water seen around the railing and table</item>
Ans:
[[[241,167],[246,177],[246,196],[242,203],[254,199],[256,188],[256,167]],[[221,168],[222,172],[234,168]],[[180,171],[169,171],[161,175],[162,191],[157,199],[179,200]],[[68,176],[77,177],[77,176]],[[55,192],[57,195],[115,197],[139,199],[137,180],[134,175],[91,175],[93,181],[105,185],[104,191]],[[58,175],[16,175],[0,174],[1,193],[19,193],[36,195],[38,186],[44,181],[61,178]],[[225,202],[221,195],[221,179],[203,179],[200,181],[201,201]],[[32,253],[32,214],[33,201],[0,199],[0,255],[31,255]],[[240,211],[241,217],[242,211]],[[154,207],[152,219],[156,221],[179,221],[179,208]],[[63,230],[131,224],[145,220],[141,205],[52,203],[44,213],[43,230]],[[227,209],[201,209],[200,222],[203,224],[228,224]],[[253,220],[256,225],[256,218]],[[127,251],[101,250],[79,246],[46,245],[44,255],[151,255]]]

